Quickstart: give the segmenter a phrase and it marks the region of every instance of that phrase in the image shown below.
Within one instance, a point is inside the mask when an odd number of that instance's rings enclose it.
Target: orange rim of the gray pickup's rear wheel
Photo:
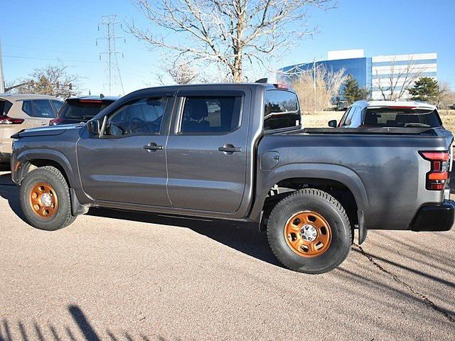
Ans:
[[[322,215],[314,211],[302,211],[287,220],[284,239],[299,256],[315,257],[330,247],[332,231]]]

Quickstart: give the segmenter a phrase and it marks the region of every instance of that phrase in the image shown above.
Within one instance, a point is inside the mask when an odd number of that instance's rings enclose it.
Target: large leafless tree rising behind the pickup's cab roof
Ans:
[[[166,50],[174,62],[221,65],[233,82],[245,79],[246,65],[265,65],[293,42],[311,35],[308,9],[328,9],[332,0],[135,0],[151,24],[129,31],[151,48]],[[166,36],[157,31],[166,32]],[[169,35],[167,33],[175,33]]]

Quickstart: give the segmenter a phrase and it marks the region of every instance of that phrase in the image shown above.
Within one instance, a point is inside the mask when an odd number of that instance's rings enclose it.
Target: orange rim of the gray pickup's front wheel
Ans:
[[[36,183],[28,195],[31,209],[41,218],[50,218],[58,209],[58,197],[54,188],[48,183]]]

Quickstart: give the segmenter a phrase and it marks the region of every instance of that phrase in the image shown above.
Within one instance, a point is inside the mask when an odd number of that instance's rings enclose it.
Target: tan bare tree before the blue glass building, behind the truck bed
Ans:
[[[346,80],[345,70],[327,70],[323,65],[302,72],[292,82],[299,95],[302,112],[320,112],[329,107],[331,100],[340,93]]]

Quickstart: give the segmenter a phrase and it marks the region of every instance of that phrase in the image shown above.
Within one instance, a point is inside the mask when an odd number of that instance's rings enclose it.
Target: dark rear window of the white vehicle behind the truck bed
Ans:
[[[422,126],[436,128],[442,126],[436,109],[413,108],[368,108],[364,126],[404,127]]]

